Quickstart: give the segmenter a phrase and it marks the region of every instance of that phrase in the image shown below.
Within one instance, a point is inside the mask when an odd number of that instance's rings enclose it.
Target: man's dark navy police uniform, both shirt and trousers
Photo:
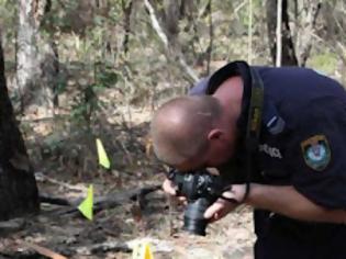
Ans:
[[[346,92],[335,80],[298,67],[253,67],[264,82],[263,125],[252,181],[293,185],[312,202],[346,209]],[[245,176],[244,139],[252,79],[244,61],[227,64],[190,94],[212,94],[227,78],[244,83],[239,145],[231,174]],[[235,165],[235,166],[234,166]],[[227,169],[227,168],[226,168]],[[232,178],[232,177],[231,177]],[[242,177],[235,177],[242,181]],[[306,223],[255,210],[256,259],[346,258],[346,226]]]

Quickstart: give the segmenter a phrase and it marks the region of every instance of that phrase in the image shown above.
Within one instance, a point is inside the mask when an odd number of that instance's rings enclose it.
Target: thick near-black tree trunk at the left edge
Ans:
[[[36,181],[9,100],[0,43],[0,221],[38,211]]]

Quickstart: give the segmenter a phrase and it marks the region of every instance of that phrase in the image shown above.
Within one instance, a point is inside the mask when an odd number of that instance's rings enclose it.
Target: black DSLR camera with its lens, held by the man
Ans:
[[[219,176],[212,176],[208,170],[179,172],[172,169],[168,179],[177,185],[177,194],[188,200],[183,215],[183,229],[205,236],[208,219],[203,214],[205,210],[222,195],[225,183]]]

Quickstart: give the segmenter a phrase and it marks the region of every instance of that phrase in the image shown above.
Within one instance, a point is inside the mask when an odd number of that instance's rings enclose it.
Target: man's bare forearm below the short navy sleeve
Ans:
[[[346,223],[345,210],[327,210],[316,205],[293,187],[253,183],[245,203],[301,221]]]

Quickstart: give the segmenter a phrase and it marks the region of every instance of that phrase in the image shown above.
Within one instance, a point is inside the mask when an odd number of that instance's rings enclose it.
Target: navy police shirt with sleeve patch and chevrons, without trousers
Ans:
[[[263,128],[254,179],[293,185],[309,200],[346,209],[346,92],[335,80],[299,67],[253,67],[264,81]],[[200,81],[190,94],[212,94],[227,78],[244,82],[238,120],[245,137],[250,76],[235,61]],[[242,136],[241,136],[242,137]]]

